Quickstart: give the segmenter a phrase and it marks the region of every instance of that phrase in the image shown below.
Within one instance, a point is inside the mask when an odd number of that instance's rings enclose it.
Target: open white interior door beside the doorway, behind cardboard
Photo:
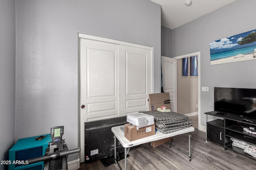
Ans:
[[[164,92],[170,94],[171,110],[177,112],[176,59],[161,57]]]

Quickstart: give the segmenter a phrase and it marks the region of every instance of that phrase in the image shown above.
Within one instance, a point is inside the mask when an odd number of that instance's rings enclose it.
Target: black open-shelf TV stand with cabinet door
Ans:
[[[232,146],[230,138],[239,139],[247,143],[256,145],[256,135],[247,133],[242,127],[256,127],[256,119],[248,118],[253,123],[243,121],[244,117],[238,115],[230,115],[216,111],[206,112],[206,142],[211,141],[222,147],[224,150],[229,149],[249,158],[256,160],[250,154],[244,152],[243,149]],[[208,121],[208,115],[216,116],[222,119]],[[247,118],[246,118],[247,119]]]

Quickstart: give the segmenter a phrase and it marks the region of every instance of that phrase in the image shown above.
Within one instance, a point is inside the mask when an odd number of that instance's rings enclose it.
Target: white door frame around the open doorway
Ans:
[[[205,131],[205,127],[201,126],[201,104],[200,104],[200,96],[201,96],[201,91],[200,91],[200,87],[201,87],[201,65],[200,65],[200,51],[199,52],[195,52],[195,53],[190,53],[190,54],[186,54],[186,55],[180,55],[180,56],[177,56],[177,57],[173,57],[173,59],[183,59],[183,58],[186,58],[186,57],[192,57],[192,56],[198,56],[198,130],[200,131]],[[177,64],[177,62],[176,62]],[[177,69],[177,65],[176,65],[176,69]],[[177,70],[176,70],[176,87],[177,87]],[[176,89],[176,98],[177,98],[177,89]],[[177,105],[177,102],[176,102],[176,105]],[[177,106],[176,106],[177,108]]]

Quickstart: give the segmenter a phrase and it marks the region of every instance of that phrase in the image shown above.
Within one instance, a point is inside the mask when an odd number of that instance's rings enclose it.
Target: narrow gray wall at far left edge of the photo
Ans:
[[[0,0],[0,23],[0,160],[8,160],[15,133],[15,0]]]

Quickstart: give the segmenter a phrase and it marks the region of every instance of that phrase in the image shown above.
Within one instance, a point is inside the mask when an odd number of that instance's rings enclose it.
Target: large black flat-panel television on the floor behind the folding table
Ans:
[[[114,163],[114,133],[111,128],[128,123],[126,116],[89,121],[84,123],[85,163],[101,160],[104,166]],[[117,156],[124,153],[124,148],[116,139]],[[122,159],[122,158],[120,158]]]

